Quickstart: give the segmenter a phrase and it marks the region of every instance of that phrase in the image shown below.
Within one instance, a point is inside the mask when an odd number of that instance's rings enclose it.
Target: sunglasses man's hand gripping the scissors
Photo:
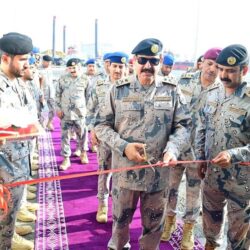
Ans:
[[[144,162],[146,160],[146,156],[143,153],[144,148],[145,144],[143,143],[129,143],[124,150],[124,154],[130,161]]]

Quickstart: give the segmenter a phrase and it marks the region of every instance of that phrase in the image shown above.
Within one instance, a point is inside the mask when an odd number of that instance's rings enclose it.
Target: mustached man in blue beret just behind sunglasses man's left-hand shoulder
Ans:
[[[96,87],[91,92],[90,99],[88,101],[88,112],[91,123],[88,125],[91,129],[91,141],[92,145],[98,145],[98,140],[93,129],[95,124],[95,117],[101,106],[104,106],[105,96],[115,81],[124,78],[126,73],[126,67],[128,62],[128,55],[123,52],[110,53],[106,59],[109,60],[109,72],[110,75],[107,79],[99,80],[96,83]],[[111,150],[106,143],[100,143],[98,145],[98,164],[99,170],[111,169]],[[110,189],[111,174],[102,174],[98,176],[98,211],[96,214],[96,220],[100,223],[106,223],[108,221],[108,197]]]

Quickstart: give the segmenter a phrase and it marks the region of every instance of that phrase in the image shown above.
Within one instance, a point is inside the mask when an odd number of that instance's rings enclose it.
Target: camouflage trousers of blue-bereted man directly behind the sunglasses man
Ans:
[[[110,148],[101,143],[98,146],[98,164],[99,170],[109,170],[111,169],[111,150]],[[98,176],[98,194],[97,197],[99,202],[103,205],[108,205],[108,197],[110,190],[110,179],[112,174],[101,174]]]

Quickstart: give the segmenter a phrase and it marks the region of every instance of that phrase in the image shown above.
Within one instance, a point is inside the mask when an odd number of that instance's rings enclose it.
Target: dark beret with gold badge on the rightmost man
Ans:
[[[224,48],[216,62],[224,66],[247,65],[249,62],[247,48],[241,44],[232,44]]]

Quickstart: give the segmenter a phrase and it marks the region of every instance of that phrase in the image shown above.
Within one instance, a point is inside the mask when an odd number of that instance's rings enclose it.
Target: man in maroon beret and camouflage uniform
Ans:
[[[211,48],[204,54],[204,61],[202,70],[196,74],[188,73],[179,81],[179,87],[186,97],[189,112],[192,117],[191,128],[191,143],[189,148],[180,156],[180,160],[194,160],[193,141],[195,136],[195,128],[197,126],[198,110],[202,103],[206,100],[208,89],[218,86],[220,83],[217,79],[218,68],[215,62],[221,49]],[[181,242],[182,249],[193,249],[194,247],[194,224],[198,219],[200,213],[200,183],[201,180],[198,176],[197,165],[177,165],[170,169],[169,180],[169,200],[167,202],[167,216],[162,235],[163,241],[168,241],[171,238],[172,232],[177,228],[176,226],[176,213],[177,213],[177,200],[178,190],[183,177],[186,173],[186,212],[183,217],[183,237]]]

